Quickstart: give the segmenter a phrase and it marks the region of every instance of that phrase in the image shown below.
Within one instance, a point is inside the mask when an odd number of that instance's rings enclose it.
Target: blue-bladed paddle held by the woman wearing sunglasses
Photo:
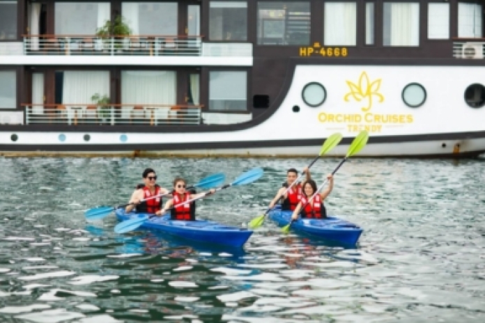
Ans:
[[[236,180],[234,180],[234,182],[232,182],[230,184],[225,184],[224,186],[217,188],[215,191],[220,191],[221,189],[226,189],[226,188],[234,186],[234,185],[249,184],[249,183],[254,182],[255,180],[258,180],[259,178],[261,178],[263,173],[264,173],[264,171],[263,171],[262,168],[253,168],[252,170],[247,171],[246,173],[242,173],[241,175],[239,175],[239,177],[236,178]],[[206,192],[205,194],[203,194],[201,196],[198,196],[197,198],[192,198],[190,200],[186,200],[183,203],[178,203],[177,205],[170,207],[168,210],[179,207],[180,205],[192,203],[195,200],[199,200],[201,198],[208,196],[209,194],[210,194],[210,191]],[[165,211],[168,211],[168,210],[165,210]],[[135,230],[135,229],[139,228],[139,226],[141,226],[146,220],[151,219],[153,216],[156,216],[156,215],[153,214],[153,215],[150,215],[150,216],[143,216],[143,217],[139,217],[139,218],[136,218],[136,219],[130,219],[130,220],[118,223],[114,227],[114,232],[115,233],[127,233],[129,231]]]

